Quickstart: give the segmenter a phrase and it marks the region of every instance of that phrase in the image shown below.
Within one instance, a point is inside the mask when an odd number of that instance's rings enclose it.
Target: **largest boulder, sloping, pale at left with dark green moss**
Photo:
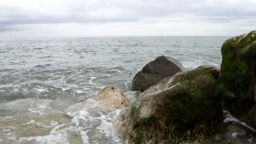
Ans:
[[[205,143],[222,133],[219,71],[199,67],[150,87],[114,120],[115,133],[129,143]]]

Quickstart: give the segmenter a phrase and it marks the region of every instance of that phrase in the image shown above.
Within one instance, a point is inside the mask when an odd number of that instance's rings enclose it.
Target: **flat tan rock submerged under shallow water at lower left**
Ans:
[[[25,113],[16,116],[0,118],[1,139],[8,139],[8,133],[15,137],[45,136],[57,125],[71,122],[71,117],[59,111],[45,111],[40,113]]]

